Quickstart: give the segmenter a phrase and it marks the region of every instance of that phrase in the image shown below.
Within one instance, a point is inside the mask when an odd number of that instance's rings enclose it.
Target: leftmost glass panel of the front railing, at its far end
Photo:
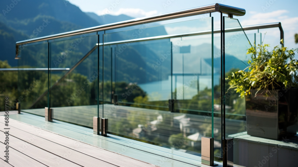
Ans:
[[[44,107],[48,106],[48,43],[21,45],[18,57],[21,110],[44,116]]]

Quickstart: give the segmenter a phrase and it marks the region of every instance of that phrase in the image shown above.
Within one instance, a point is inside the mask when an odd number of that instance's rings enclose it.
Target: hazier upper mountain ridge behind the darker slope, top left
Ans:
[[[10,21],[26,21],[38,15],[51,16],[59,21],[69,22],[82,28],[98,26],[98,21],[87,16],[79,7],[65,0],[30,0],[17,1],[10,5],[11,0],[1,0],[0,6],[4,7],[2,15]],[[7,7],[14,6],[13,8]]]

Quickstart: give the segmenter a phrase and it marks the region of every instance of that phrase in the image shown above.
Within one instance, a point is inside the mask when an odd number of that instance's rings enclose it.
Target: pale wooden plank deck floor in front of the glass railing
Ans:
[[[10,112],[9,126],[0,116],[0,126],[0,166],[201,166],[200,158],[194,155],[183,157],[185,153],[159,146],[98,136],[89,128],[49,123],[44,117],[27,113]],[[10,134],[9,163],[4,162],[6,130]]]

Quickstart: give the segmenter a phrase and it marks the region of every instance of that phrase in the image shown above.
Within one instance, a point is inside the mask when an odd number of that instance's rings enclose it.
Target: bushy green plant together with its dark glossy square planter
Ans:
[[[268,47],[259,44],[249,48],[249,67],[232,73],[226,80],[229,89],[245,97],[247,134],[280,139],[297,134],[297,49],[276,46],[268,51]]]

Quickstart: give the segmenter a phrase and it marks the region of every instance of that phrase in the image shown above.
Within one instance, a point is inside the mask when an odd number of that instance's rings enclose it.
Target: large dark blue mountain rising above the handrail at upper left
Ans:
[[[15,42],[101,25],[65,0],[1,0],[0,60],[16,66]]]

